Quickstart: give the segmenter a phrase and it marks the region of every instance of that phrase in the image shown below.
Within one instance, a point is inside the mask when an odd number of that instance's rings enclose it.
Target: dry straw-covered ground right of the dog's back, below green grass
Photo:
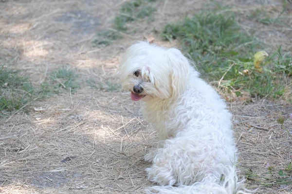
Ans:
[[[277,120],[282,115],[285,118],[284,126],[291,133],[292,120],[289,114],[292,112],[292,106],[285,102],[261,100],[252,104],[232,103],[230,110],[234,114],[234,129],[240,152],[239,166],[242,173],[249,175],[248,171],[252,171],[256,176],[273,180],[279,178],[279,170],[285,171],[291,162],[292,139],[291,134],[288,134]],[[268,166],[274,168],[274,177],[270,176]],[[256,176],[250,177],[248,184],[251,188],[261,186],[257,191],[259,194],[274,194],[276,189],[277,193],[288,194],[292,190],[291,182],[285,185]]]

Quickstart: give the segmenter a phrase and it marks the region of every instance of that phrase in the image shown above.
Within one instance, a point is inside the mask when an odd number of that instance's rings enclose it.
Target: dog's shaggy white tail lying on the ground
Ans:
[[[147,194],[252,194],[247,190],[244,179],[238,180],[235,166],[228,170],[222,181],[214,176],[206,176],[191,186],[154,186],[146,189]],[[220,183],[219,183],[220,182]]]

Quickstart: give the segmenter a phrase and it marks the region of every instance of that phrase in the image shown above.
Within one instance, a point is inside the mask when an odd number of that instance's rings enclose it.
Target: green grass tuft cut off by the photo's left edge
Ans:
[[[18,110],[33,98],[35,88],[27,77],[6,66],[0,67],[0,115]]]

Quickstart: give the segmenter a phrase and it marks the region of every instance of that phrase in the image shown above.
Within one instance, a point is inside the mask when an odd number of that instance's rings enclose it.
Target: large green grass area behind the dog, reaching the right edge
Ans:
[[[291,76],[291,54],[281,48],[270,53],[262,72],[254,67],[253,55],[262,45],[243,33],[233,14],[201,13],[177,24],[167,24],[165,40],[179,39],[183,52],[194,60],[202,76],[237,96],[278,98],[285,93],[286,76]],[[248,72],[248,74],[244,73]]]

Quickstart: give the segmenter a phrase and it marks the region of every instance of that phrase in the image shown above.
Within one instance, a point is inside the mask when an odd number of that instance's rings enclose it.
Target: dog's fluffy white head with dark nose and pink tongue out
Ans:
[[[177,49],[166,49],[146,42],[128,48],[121,59],[122,88],[131,91],[134,101],[169,99],[186,87],[191,67]]]

